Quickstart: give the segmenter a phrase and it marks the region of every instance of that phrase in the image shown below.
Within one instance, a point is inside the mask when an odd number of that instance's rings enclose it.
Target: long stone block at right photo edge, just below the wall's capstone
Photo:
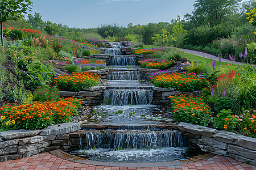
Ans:
[[[228,145],[228,152],[248,159],[256,160],[256,151],[252,151],[236,145]]]

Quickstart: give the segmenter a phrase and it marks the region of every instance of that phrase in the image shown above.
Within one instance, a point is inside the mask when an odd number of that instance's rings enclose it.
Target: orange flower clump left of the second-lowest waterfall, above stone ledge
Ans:
[[[88,72],[72,73],[72,76],[60,74],[53,83],[64,91],[81,91],[82,88],[100,85],[100,76]]]

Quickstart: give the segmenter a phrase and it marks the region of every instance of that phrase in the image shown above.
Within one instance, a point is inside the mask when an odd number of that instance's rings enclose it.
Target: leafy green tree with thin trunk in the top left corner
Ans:
[[[3,23],[9,20],[21,18],[22,13],[26,14],[30,10],[32,2],[30,0],[1,0],[0,1],[0,25],[1,25],[1,42],[3,46]]]

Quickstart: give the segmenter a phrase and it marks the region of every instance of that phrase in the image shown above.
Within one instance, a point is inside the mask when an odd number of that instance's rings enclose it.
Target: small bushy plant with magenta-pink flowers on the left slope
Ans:
[[[60,92],[59,88],[56,86],[42,86],[38,87],[34,91],[34,100],[35,101],[48,101],[48,100],[57,100],[59,98]]]

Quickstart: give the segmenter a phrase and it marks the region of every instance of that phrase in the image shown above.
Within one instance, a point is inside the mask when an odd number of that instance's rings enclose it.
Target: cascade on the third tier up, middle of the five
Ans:
[[[139,80],[139,71],[109,72],[108,80]]]

